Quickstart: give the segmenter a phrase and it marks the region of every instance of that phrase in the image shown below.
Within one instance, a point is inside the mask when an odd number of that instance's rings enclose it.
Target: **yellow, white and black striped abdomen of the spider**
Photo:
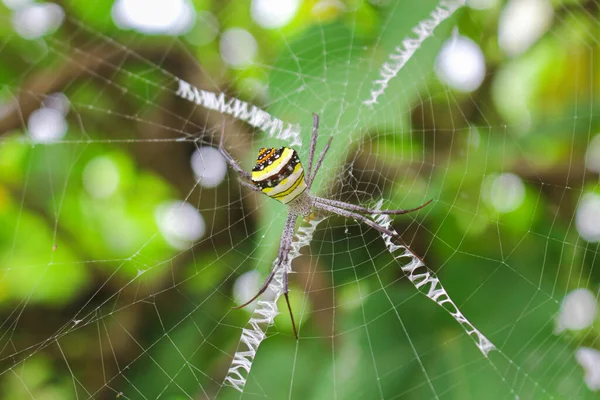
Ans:
[[[296,150],[262,148],[252,168],[252,181],[267,196],[284,204],[306,190],[304,169]]]

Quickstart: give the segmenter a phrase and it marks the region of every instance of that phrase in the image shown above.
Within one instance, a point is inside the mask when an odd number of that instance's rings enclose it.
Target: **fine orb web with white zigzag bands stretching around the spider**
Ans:
[[[597,327],[555,321],[573,289],[596,297],[599,238],[577,216],[598,191],[598,3],[555,4],[513,59],[496,42],[503,5],[318,3],[287,28],[248,25],[259,52],[241,69],[218,39],[117,30],[109,2],[61,3],[61,27],[34,40],[2,9],[3,397],[594,397],[600,361],[581,351]],[[203,7],[220,34],[249,19],[245,2]],[[487,57],[470,94],[434,74],[459,34]],[[35,137],[39,110],[66,115],[64,137]],[[248,170],[263,146],[306,160],[313,112],[318,149],[333,135],[316,194],[434,201],[371,216],[404,243],[337,216],[299,222],[296,341],[280,273],[256,308],[231,309],[272,268],[286,208],[231,169],[211,183],[223,160],[205,150],[225,124]]]

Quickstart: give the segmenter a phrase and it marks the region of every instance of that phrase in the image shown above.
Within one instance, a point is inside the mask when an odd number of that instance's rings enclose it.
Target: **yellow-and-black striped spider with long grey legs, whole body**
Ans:
[[[261,192],[271,197],[272,199],[278,200],[288,207],[288,215],[285,221],[285,227],[281,235],[281,242],[279,245],[279,252],[275,266],[271,270],[271,273],[267,277],[265,283],[260,287],[258,293],[250,300],[242,304],[241,306],[234,307],[239,309],[246,307],[254,300],[256,300],[261,294],[267,290],[267,287],[273,280],[277,269],[288,263],[288,255],[291,250],[292,239],[294,236],[294,228],[296,227],[296,220],[299,216],[305,218],[311,218],[313,209],[325,211],[332,214],[337,214],[346,218],[353,218],[356,221],[363,222],[371,228],[390,235],[397,237],[398,235],[383,226],[378,225],[373,220],[367,218],[363,214],[387,214],[387,215],[399,215],[407,214],[409,212],[420,210],[433,201],[429,200],[426,203],[408,210],[372,210],[366,207],[357,206],[343,201],[325,199],[317,197],[310,193],[310,188],[315,180],[319,168],[325,159],[327,151],[331,146],[333,136],[329,138],[325,148],[321,152],[321,155],[314,166],[313,160],[315,155],[315,148],[317,145],[317,137],[319,135],[319,116],[313,114],[313,127],[312,135],[310,139],[310,148],[308,151],[308,170],[306,174],[298,153],[296,150],[289,147],[275,148],[261,148],[258,151],[256,158],[256,165],[252,168],[252,173],[245,171],[234,158],[225,150],[223,147],[223,138],[225,136],[225,125],[221,131],[221,138],[219,141],[219,151],[225,157],[227,163],[233,168],[239,175],[239,181],[242,186],[251,189],[256,192]],[[288,298],[288,272],[287,270],[283,273],[283,294],[285,301],[290,313],[292,320],[292,327],[294,328],[294,335],[296,340],[298,339],[298,331],[296,330],[296,323],[294,321],[294,314],[292,313],[292,307],[290,306],[290,300]]]

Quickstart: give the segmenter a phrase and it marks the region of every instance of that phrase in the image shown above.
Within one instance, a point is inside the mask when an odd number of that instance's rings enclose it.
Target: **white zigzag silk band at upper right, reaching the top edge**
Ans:
[[[377,104],[377,99],[385,92],[390,81],[398,75],[398,72],[412,58],[423,42],[433,35],[435,28],[450,18],[465,3],[466,0],[443,0],[431,12],[428,19],[420,21],[412,29],[416,37],[409,36],[405,38],[402,43],[396,46],[394,51],[388,56],[388,60],[381,66],[379,70],[380,78],[373,81],[371,97],[363,101],[363,104],[371,108]]]

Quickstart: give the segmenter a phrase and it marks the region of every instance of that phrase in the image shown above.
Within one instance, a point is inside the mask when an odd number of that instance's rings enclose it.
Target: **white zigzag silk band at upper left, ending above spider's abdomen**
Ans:
[[[240,121],[266,132],[269,136],[289,142],[289,146],[302,146],[300,127],[275,118],[268,112],[235,97],[227,98],[224,93],[213,93],[195,88],[183,79],[177,79],[179,88],[175,95],[209,110],[231,115]]]

